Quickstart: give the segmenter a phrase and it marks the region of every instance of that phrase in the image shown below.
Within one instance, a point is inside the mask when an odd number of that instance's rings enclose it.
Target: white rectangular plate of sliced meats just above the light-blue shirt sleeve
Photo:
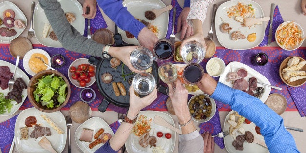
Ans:
[[[249,67],[248,65],[245,65],[243,63],[233,61],[233,62],[230,62],[225,67],[224,73],[219,78],[219,82],[221,82],[221,83],[223,83],[223,84],[225,84],[229,87],[233,86],[233,84],[231,84],[231,82],[226,81],[228,73],[231,72],[230,71],[230,66],[231,66],[233,72],[236,72],[239,68],[245,68],[248,71],[248,76],[245,77],[245,80],[247,80],[247,81],[248,81],[248,78],[255,77],[255,78],[257,78],[258,82],[262,82],[262,83],[266,83],[268,85],[271,85],[270,81],[265,76],[263,76],[262,74],[257,72],[256,70],[252,69],[251,67]],[[257,83],[257,86],[258,87],[263,87],[265,89],[265,92],[263,93],[263,95],[260,99],[264,103],[267,100],[268,96],[270,95],[271,87],[264,86],[264,85],[261,85],[261,84],[258,84],[258,83]],[[247,90],[249,90],[249,87],[247,88]]]

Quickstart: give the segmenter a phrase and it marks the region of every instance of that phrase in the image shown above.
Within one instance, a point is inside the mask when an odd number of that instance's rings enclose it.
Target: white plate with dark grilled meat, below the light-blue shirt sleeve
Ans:
[[[229,114],[225,117],[224,126],[223,126],[223,130],[224,131],[229,130],[229,123],[227,122],[227,120],[230,119],[229,115],[232,114],[232,113],[235,113],[235,111],[230,111]],[[256,125],[253,122],[251,122],[250,124],[246,124],[246,123],[242,124],[242,127],[246,131],[250,131],[252,134],[254,134],[254,136],[256,138],[258,138],[259,140],[262,140],[263,142],[265,142],[264,137],[262,135],[259,135],[259,134],[256,133],[255,126]],[[241,135],[241,133],[237,132],[237,136],[238,135]],[[234,138],[232,138],[231,136],[224,137],[223,141],[224,141],[225,149],[229,153],[268,153],[268,149],[267,148],[265,148],[265,147],[263,147],[263,146],[261,146],[259,144],[256,144],[256,143],[248,143],[247,141],[245,141],[243,143],[243,151],[238,151],[232,145],[232,142],[234,141]]]

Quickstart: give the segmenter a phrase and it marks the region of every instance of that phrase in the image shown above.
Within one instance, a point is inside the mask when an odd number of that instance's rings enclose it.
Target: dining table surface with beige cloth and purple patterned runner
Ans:
[[[1,0],[0,2],[3,2],[3,1],[5,0]],[[38,4],[38,0],[8,0],[8,1],[14,3],[20,8],[20,10],[25,14],[28,22],[30,21],[31,2],[35,1],[36,4]],[[78,1],[81,4],[83,4],[84,2],[84,0],[78,0]],[[173,7],[177,8],[178,12],[181,12],[183,4],[184,4],[184,0],[161,0],[161,1],[163,1],[166,5],[172,4]],[[205,37],[207,36],[208,31],[210,30],[213,4],[216,4],[218,7],[226,1],[228,0],[215,0],[208,7],[206,19],[204,20],[204,23],[203,23],[203,32],[204,32]],[[295,21],[302,27],[302,29],[306,30],[306,16],[302,14],[301,6],[300,6],[301,0],[290,0],[290,1],[288,0],[253,0],[253,1],[257,2],[262,7],[263,13],[265,16],[270,16],[271,3],[275,3],[279,11],[278,13],[281,14],[281,17],[284,21]],[[276,16],[276,14],[274,14],[274,16]],[[177,14],[177,17],[178,17],[178,14]],[[85,19],[84,22],[85,22],[84,36],[87,37],[87,19]],[[170,26],[168,26],[168,32],[167,32],[166,38],[169,38],[170,34],[172,33],[172,22],[173,22],[173,18],[172,18],[172,14],[170,13],[169,15],[169,25]],[[265,27],[269,26],[268,22],[265,22],[265,24],[266,24]],[[27,37],[29,28],[30,28],[30,24],[28,23],[27,27],[21,33],[20,36]],[[91,34],[93,34],[97,29],[100,29],[100,28],[107,28],[111,30],[113,33],[115,33],[114,22],[103,13],[103,10],[101,8],[97,10],[95,19],[91,19],[91,28],[90,28]],[[281,94],[287,100],[286,111],[280,115],[284,119],[284,125],[302,128],[306,130],[306,117],[301,117],[293,98],[290,96],[292,92],[294,93],[294,92],[302,91],[301,97],[299,98],[302,98],[302,101],[304,99],[304,102],[306,102],[305,84],[301,87],[294,87],[294,90],[292,90],[290,93],[289,90],[291,90],[291,88],[289,89],[288,88],[289,86],[285,84],[279,76],[279,66],[285,58],[289,56],[299,56],[299,57],[306,59],[306,41],[303,42],[301,47],[293,51],[286,51],[280,48],[275,41],[269,45],[260,45],[260,46],[257,46],[251,49],[246,49],[246,50],[227,49],[223,47],[218,41],[218,38],[216,37],[216,34],[215,34],[215,31],[216,31],[215,28],[219,28],[219,27],[213,28],[213,31],[214,31],[213,42],[216,44],[216,52],[213,55],[213,57],[221,58],[225,62],[226,65],[232,61],[238,61],[238,62],[244,63],[248,65],[249,67],[253,68],[254,70],[258,71],[259,73],[261,73],[263,76],[267,77],[271,85],[281,87],[282,90],[271,89],[270,93],[271,94],[272,93]],[[175,32],[176,32],[176,29],[175,29]],[[180,32],[176,33],[175,37],[176,37],[175,41],[181,41]],[[266,35],[265,37],[268,38],[268,35]],[[80,54],[74,51],[68,51],[64,48],[53,48],[53,47],[44,46],[38,42],[36,37],[32,37],[30,41],[33,44],[33,48],[43,49],[50,56],[54,54],[62,54],[66,59],[66,63],[63,67],[56,68],[56,70],[62,73],[66,77],[68,77],[67,72],[68,72],[69,65],[74,60],[78,58],[89,58],[90,57],[89,55]],[[16,58],[14,58],[10,54],[9,46],[10,46],[10,42],[0,41],[0,60],[4,60],[4,61],[10,62],[13,65],[15,65]],[[250,58],[254,54],[257,54],[260,52],[266,53],[268,55],[268,63],[264,66],[252,65]],[[21,61],[22,60],[19,61],[18,66],[21,70],[24,71]],[[200,65],[205,68],[207,61],[208,59],[204,59],[203,62],[200,63]],[[173,61],[173,58],[169,59],[168,62],[175,63]],[[29,76],[29,78],[32,77],[29,74],[27,75]],[[215,79],[218,80],[219,77],[215,77]],[[79,98],[79,93],[82,89],[72,84],[70,84],[70,87],[71,87],[72,94],[69,97],[69,101],[60,110],[60,112],[63,115],[69,115],[70,106],[77,101],[81,101]],[[102,118],[106,123],[110,125],[110,127],[115,133],[116,129],[120,125],[120,123],[118,122],[118,112],[124,112],[126,111],[126,109],[109,104],[105,112],[103,113],[100,112],[98,110],[98,106],[104,98],[103,96],[99,94],[98,87],[96,84],[93,84],[90,87],[93,88],[97,94],[96,99],[92,103],[89,104],[92,110],[92,117]],[[168,96],[162,93],[158,93],[157,96],[158,96],[157,99],[154,100],[152,104],[145,107],[143,110],[161,111],[166,114],[169,114],[173,118],[175,122],[175,126],[178,127],[177,117],[175,115],[171,115],[167,111],[166,100]],[[190,99],[191,96],[193,95],[189,95],[188,98]],[[212,134],[218,134],[219,132],[222,132],[223,125],[225,122],[225,117],[231,111],[231,108],[229,105],[223,104],[219,101],[216,101],[216,106],[217,106],[217,111],[216,111],[215,116],[213,117],[214,119],[211,119],[209,122],[206,122],[206,123],[198,123],[198,122],[193,121],[196,128],[199,130],[200,133],[203,133],[205,131],[210,131],[210,133]],[[0,152],[8,153],[8,151],[11,148],[11,143],[14,137],[14,127],[15,127],[16,118],[21,111],[27,108],[31,108],[31,107],[33,107],[33,105],[29,102],[28,98],[26,98],[26,100],[23,102],[22,106],[19,108],[19,110],[16,113],[14,113],[13,115],[9,115],[9,116],[0,116]],[[80,124],[76,122],[73,122],[71,126],[70,133],[71,133],[72,153],[82,152],[80,148],[77,146],[76,141],[74,139],[75,131],[79,126]],[[305,131],[298,132],[298,131],[292,131],[292,130],[288,130],[288,132],[292,134],[298,150],[301,153],[306,153],[306,146],[305,146],[306,132]],[[226,148],[224,147],[223,138],[215,138],[215,142],[216,142],[216,145],[215,145],[214,151],[216,153],[226,153],[227,152]],[[66,143],[68,143],[68,141],[66,141]],[[178,142],[178,134],[177,134],[173,153],[178,152],[178,143],[179,142]],[[18,152],[16,147],[14,147],[13,152]],[[63,150],[63,153],[68,153],[68,144],[66,144]]]

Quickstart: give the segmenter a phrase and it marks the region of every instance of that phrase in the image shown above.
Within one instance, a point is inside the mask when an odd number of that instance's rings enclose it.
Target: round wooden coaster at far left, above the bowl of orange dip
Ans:
[[[24,55],[31,49],[33,49],[32,43],[25,37],[17,37],[12,40],[9,48],[11,55],[15,58],[19,55],[20,59],[23,59]]]

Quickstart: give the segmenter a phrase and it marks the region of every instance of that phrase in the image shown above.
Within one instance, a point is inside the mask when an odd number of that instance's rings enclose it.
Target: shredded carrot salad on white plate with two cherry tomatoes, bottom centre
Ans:
[[[152,118],[148,118],[145,115],[140,115],[132,128],[132,132],[138,137],[142,136],[146,132],[150,132],[151,121]]]

